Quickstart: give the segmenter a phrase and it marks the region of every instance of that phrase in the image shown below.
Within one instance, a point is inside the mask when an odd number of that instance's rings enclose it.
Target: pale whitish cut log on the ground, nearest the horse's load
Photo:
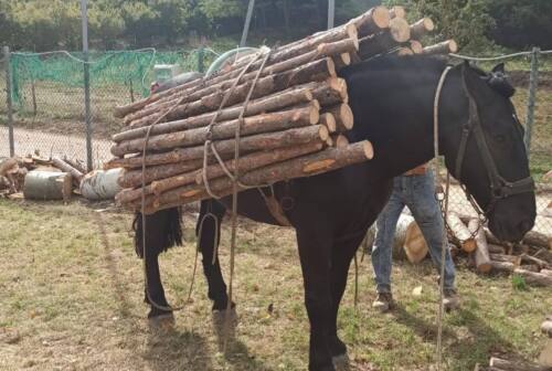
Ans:
[[[117,180],[123,169],[94,170],[81,181],[81,194],[91,201],[113,200],[121,188]]]

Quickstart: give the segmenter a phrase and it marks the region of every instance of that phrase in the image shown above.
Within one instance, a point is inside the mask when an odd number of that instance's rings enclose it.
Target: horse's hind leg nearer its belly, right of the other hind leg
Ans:
[[[203,273],[209,286],[208,295],[213,300],[213,310],[224,310],[229,303],[226,284],[222,277],[219,256],[215,255],[215,246],[219,246],[221,240],[221,223],[225,212],[224,206],[214,200],[201,201],[200,216],[195,226],[199,250],[203,256]]]

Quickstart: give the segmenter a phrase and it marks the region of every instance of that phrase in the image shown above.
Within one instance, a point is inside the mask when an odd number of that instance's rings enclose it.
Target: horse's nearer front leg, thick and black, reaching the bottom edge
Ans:
[[[297,230],[297,243],[305,284],[305,306],[310,321],[309,371],[333,371],[329,347],[331,318],[331,237]],[[318,233],[317,233],[318,232]]]

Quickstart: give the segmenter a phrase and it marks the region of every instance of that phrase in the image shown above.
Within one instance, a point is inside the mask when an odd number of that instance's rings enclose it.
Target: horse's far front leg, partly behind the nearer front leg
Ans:
[[[337,321],[341,298],[347,286],[347,276],[360,243],[365,233],[344,241],[340,241],[332,246],[331,251],[331,318],[329,322],[329,346],[331,356],[339,357],[347,353],[347,346],[338,337]]]

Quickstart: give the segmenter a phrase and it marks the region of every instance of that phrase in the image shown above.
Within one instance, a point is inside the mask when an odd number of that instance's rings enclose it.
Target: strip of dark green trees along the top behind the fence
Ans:
[[[193,44],[205,38],[235,45],[250,0],[88,0],[91,46],[120,49]],[[402,4],[411,21],[431,17],[432,39],[454,38],[463,52],[496,47],[552,47],[550,0],[340,0],[342,23],[383,2]],[[326,26],[328,0],[256,0],[251,40],[275,43]],[[81,45],[77,0],[0,0],[0,44],[13,50],[76,50]]]

